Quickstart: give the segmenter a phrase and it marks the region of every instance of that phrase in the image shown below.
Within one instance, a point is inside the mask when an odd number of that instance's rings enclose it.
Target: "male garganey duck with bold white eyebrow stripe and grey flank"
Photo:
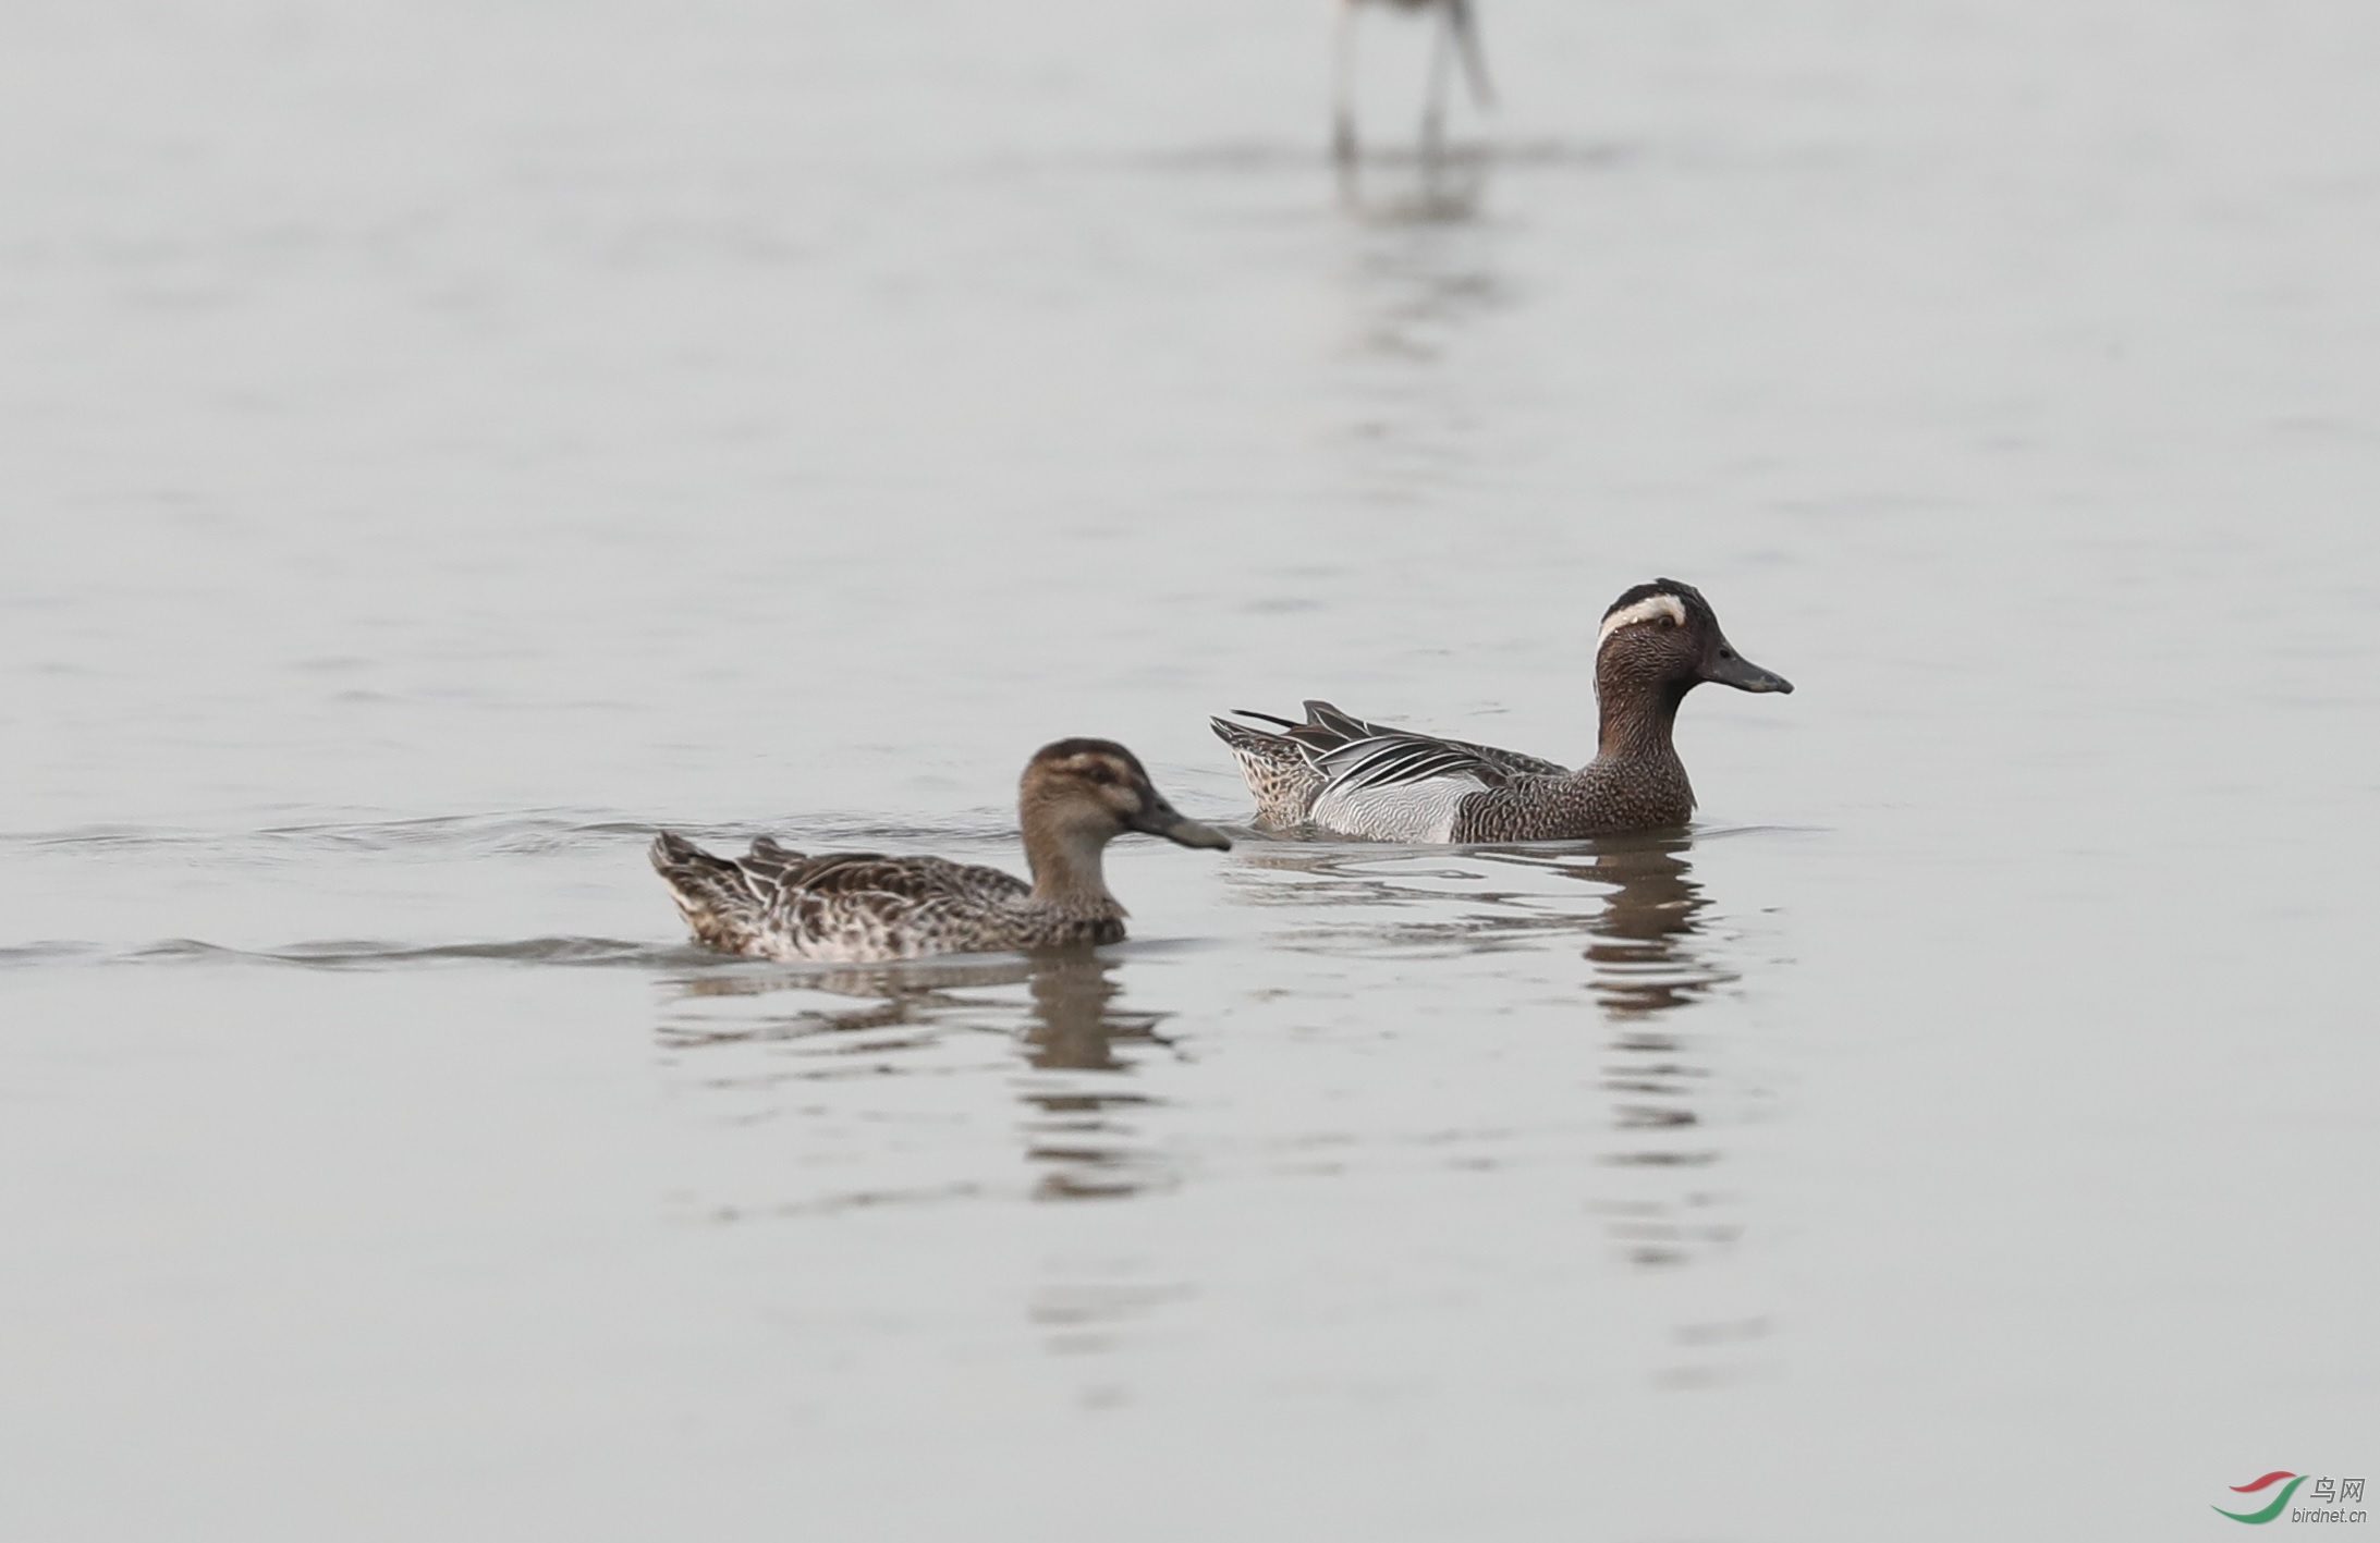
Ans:
[[[1678,704],[1704,680],[1737,692],[1792,682],[1737,654],[1702,592],[1664,578],[1628,590],[1595,640],[1602,735],[1578,770],[1514,751],[1349,718],[1240,711],[1273,735],[1214,718],[1257,796],[1259,825],[1314,825],[1380,842],[1571,842],[1685,825],[1695,789],[1671,744]]]

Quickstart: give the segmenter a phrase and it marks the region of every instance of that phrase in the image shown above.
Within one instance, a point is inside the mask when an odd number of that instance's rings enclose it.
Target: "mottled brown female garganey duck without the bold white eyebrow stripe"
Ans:
[[[1150,787],[1133,751],[1111,739],[1059,739],[1026,766],[1016,789],[1026,884],[997,868],[871,851],[807,856],[769,837],[743,858],[719,858],[666,830],[652,865],[695,937],[757,958],[883,961],[988,953],[1057,944],[1114,944],[1123,906],[1100,858],[1126,830],[1228,851]]]

